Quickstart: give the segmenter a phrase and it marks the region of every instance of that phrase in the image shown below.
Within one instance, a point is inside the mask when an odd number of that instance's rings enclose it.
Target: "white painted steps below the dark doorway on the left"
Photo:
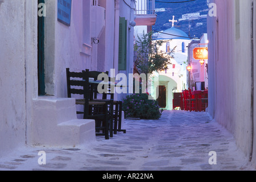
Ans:
[[[30,128],[33,145],[77,146],[96,141],[95,121],[77,119],[75,98],[33,100]]]

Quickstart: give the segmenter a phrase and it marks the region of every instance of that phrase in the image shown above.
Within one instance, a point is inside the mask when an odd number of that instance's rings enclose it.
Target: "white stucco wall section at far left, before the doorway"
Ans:
[[[25,55],[20,46],[25,41],[24,2],[13,8],[14,2],[6,1],[0,7],[0,144],[5,152],[25,140]]]

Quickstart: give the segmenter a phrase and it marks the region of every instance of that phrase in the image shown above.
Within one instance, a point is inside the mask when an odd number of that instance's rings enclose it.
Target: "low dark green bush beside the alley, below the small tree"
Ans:
[[[159,110],[158,102],[148,100],[148,94],[131,94],[123,100],[125,117],[141,119],[159,119],[163,110]]]

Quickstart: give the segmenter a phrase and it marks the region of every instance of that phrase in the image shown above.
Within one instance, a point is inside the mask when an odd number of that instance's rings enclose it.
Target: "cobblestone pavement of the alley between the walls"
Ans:
[[[126,134],[109,140],[97,137],[87,146],[20,148],[0,158],[0,170],[247,170],[247,159],[232,135],[210,121],[207,113],[164,111],[157,121],[127,120],[124,127]],[[39,151],[46,152],[45,165],[38,164]],[[210,151],[216,155],[210,156]],[[217,164],[210,165],[209,158],[214,156]]]

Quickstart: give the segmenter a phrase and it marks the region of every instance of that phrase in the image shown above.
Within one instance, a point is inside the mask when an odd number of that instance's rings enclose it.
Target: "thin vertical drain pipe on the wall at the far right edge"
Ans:
[[[254,142],[254,3],[251,5],[251,151],[249,161],[253,159]]]

